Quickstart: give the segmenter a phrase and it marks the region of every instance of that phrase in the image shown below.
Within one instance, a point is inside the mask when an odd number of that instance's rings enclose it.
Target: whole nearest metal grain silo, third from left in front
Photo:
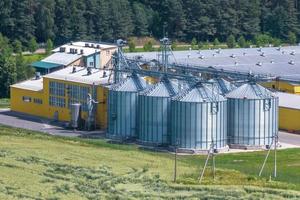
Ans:
[[[172,145],[221,149],[227,141],[227,100],[199,83],[172,99]]]

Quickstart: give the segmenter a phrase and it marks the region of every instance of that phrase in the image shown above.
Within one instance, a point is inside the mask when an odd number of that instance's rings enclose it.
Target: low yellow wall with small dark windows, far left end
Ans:
[[[43,90],[31,91],[16,87],[10,88],[11,92],[11,110],[16,112],[28,113],[35,116],[47,117],[45,107],[45,96]],[[23,101],[23,97],[31,97],[31,102]],[[34,103],[34,98],[41,99],[43,104]]]

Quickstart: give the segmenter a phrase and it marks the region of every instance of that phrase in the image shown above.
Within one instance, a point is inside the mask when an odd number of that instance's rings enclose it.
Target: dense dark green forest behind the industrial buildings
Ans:
[[[153,51],[164,35],[177,50],[294,45],[299,11],[298,0],[1,0],[0,98],[34,74],[23,51],[118,38],[129,39],[128,51]],[[151,40],[137,49],[132,38]]]

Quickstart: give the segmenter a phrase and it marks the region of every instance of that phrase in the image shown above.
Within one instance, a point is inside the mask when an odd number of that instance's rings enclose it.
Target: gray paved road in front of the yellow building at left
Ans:
[[[105,136],[103,131],[73,131],[66,129],[63,123],[12,112],[8,109],[0,109],[0,124],[66,137],[103,138]]]

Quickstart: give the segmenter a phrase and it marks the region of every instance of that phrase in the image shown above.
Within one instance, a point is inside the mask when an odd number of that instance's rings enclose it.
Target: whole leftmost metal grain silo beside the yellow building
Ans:
[[[108,133],[112,139],[137,136],[138,93],[146,88],[144,79],[136,74],[113,85],[108,92]]]

